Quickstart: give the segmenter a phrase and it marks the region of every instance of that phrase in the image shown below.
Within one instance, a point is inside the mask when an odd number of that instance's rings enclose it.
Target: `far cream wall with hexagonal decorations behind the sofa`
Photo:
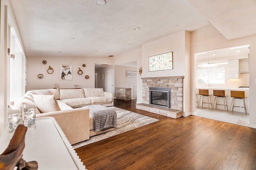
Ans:
[[[26,91],[31,89],[53,88],[58,84],[58,88],[94,88],[95,86],[95,63],[97,64],[114,64],[112,57],[27,57],[27,81]],[[43,64],[46,61],[47,64]],[[60,64],[70,64],[73,66],[73,80],[60,80]],[[86,64],[82,67],[82,64]],[[47,69],[51,66],[54,68],[53,74],[48,74]],[[78,67],[83,71],[78,75]],[[43,74],[44,78],[39,79],[38,74]],[[89,79],[84,76],[88,75]]]

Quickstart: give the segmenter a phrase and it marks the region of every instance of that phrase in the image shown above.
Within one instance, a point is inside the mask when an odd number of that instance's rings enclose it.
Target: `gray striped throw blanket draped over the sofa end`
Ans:
[[[93,130],[101,131],[116,127],[116,111],[101,105],[85,106],[93,117]]]

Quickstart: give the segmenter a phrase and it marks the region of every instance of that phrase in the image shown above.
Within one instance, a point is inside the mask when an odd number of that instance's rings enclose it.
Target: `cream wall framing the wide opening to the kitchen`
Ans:
[[[213,26],[208,26],[191,33],[191,104],[192,111],[196,112],[196,75],[194,65],[194,54],[204,51],[212,51],[217,49],[224,49],[239,45],[250,44],[250,58],[249,58],[249,86],[250,86],[250,101],[249,101],[249,127],[256,128],[256,35],[243,37],[239,39],[227,40],[218,30]]]

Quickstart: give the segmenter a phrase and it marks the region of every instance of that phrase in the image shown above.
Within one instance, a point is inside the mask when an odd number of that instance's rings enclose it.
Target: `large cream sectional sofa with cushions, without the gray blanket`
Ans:
[[[15,106],[35,104],[36,118],[54,117],[71,144],[110,131],[93,131],[92,115],[83,106],[114,106],[112,93],[102,88],[29,90]],[[83,107],[83,108],[82,108]]]

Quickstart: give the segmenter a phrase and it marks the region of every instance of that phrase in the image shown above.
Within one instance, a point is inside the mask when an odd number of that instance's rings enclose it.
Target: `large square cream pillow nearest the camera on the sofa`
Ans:
[[[54,95],[34,94],[33,97],[36,107],[38,107],[41,113],[60,111],[60,107]]]

